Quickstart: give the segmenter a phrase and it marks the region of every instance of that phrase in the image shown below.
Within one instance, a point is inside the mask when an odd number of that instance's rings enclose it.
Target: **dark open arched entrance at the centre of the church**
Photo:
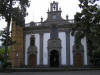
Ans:
[[[56,50],[52,50],[50,52],[50,66],[51,67],[59,66],[59,52]]]

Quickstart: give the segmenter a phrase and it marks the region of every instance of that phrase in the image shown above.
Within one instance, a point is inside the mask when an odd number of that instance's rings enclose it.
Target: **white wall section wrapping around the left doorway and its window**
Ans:
[[[39,54],[40,54],[40,36],[39,34],[27,34],[26,35],[26,41],[25,41],[25,65],[28,65],[28,47],[30,46],[30,38],[31,35],[35,36],[35,45],[37,47],[37,65],[39,64]]]

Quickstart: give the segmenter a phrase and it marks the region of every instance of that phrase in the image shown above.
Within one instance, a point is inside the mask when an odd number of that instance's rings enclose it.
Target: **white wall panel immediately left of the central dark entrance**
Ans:
[[[43,34],[43,64],[48,65],[48,40],[50,39],[50,33]]]

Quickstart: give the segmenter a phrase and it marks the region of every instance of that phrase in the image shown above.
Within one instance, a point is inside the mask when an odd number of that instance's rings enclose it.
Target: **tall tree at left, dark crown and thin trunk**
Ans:
[[[23,25],[25,23],[24,17],[27,15],[26,7],[29,7],[29,0],[0,0],[0,17],[7,22],[7,39],[4,54],[5,62],[7,62],[11,21],[13,20],[17,25]]]

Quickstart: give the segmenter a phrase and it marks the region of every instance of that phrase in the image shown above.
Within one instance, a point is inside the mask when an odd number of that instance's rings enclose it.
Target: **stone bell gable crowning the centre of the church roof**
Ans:
[[[50,3],[50,10],[47,12],[48,18],[46,20],[49,22],[57,22],[57,21],[62,21],[63,19],[61,18],[61,8],[58,6],[58,2],[53,1]]]

